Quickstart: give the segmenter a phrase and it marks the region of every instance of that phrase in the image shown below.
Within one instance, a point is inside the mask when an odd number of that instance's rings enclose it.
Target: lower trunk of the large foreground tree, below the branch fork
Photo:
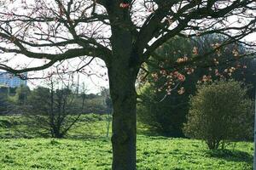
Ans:
[[[136,169],[136,101],[137,69],[119,59],[108,67],[113,101],[113,170]]]

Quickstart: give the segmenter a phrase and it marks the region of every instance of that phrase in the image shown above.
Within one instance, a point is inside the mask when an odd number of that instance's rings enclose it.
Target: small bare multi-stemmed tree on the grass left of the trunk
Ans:
[[[84,103],[76,103],[77,94],[69,88],[55,89],[51,81],[49,88],[38,87],[28,98],[26,116],[32,127],[46,130],[52,138],[63,138],[79,121]]]

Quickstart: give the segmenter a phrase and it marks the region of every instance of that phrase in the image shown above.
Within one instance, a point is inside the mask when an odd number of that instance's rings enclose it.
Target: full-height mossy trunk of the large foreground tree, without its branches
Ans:
[[[113,102],[113,170],[136,169],[135,82],[139,70],[137,48],[133,46],[131,16],[128,8],[118,8],[119,1],[108,1],[113,55],[107,62],[110,95]]]

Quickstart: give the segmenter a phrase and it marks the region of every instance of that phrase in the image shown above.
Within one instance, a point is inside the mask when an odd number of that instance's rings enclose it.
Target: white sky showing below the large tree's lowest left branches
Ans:
[[[0,54],[0,59],[9,58],[7,54]],[[77,68],[81,59],[70,59],[68,63],[63,63],[65,67],[71,68],[73,66],[73,70]],[[87,59],[88,60],[88,59]],[[42,59],[28,59],[25,56],[17,55],[12,58],[9,63],[10,66],[15,67],[16,65],[29,65],[29,66],[37,66],[42,65],[44,62]],[[56,71],[55,68],[49,68],[44,71],[32,71],[28,72],[28,77],[45,77],[48,72]],[[55,76],[55,78],[58,76]],[[64,76],[64,79],[67,79],[68,76]],[[94,59],[90,65],[84,67],[83,73],[74,73],[73,74],[73,82],[78,82],[79,84],[86,87],[87,94],[97,94],[101,91],[101,88],[108,88],[108,70],[102,61],[102,59]],[[37,86],[45,86],[47,79],[29,79],[27,80],[27,85],[30,88],[36,88]],[[77,83],[76,83],[77,84]]]

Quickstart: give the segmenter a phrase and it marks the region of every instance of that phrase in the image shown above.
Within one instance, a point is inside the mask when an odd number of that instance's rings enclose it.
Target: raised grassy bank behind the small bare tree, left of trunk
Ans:
[[[42,137],[43,130],[26,126],[26,121],[25,116],[0,116],[0,139]],[[67,133],[67,138],[99,138],[106,136],[106,133],[107,116],[88,114],[80,117],[79,122]]]

